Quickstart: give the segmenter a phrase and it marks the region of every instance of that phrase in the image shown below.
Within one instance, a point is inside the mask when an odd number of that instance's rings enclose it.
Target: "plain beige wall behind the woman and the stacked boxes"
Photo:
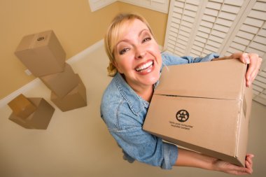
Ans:
[[[116,2],[92,13],[87,0],[0,1],[0,99],[35,78],[25,74],[26,67],[14,55],[22,36],[52,29],[69,59],[100,41],[120,11],[144,15],[163,44],[167,15],[153,10]]]

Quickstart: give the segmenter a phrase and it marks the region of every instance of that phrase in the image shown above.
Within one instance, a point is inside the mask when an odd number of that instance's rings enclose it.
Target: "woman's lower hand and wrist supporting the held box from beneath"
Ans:
[[[229,162],[224,162],[222,160],[214,161],[214,170],[222,171],[227,174],[235,174],[235,175],[244,175],[244,174],[252,174],[253,173],[253,162],[252,158],[254,155],[248,154],[246,155],[246,167],[239,167],[235,164],[230,164]]]

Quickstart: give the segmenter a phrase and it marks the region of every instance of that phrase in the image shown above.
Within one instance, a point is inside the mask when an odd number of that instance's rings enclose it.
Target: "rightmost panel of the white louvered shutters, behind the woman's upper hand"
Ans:
[[[265,44],[266,3],[256,1],[225,55],[230,55],[234,51],[255,52],[263,58],[262,62],[265,65]],[[262,71],[253,81],[253,100],[266,105],[266,69],[263,64]]]

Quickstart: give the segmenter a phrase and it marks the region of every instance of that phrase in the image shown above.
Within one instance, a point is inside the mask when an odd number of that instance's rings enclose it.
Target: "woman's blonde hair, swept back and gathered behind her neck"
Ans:
[[[153,35],[153,31],[151,31],[150,25],[144,19],[144,17],[141,17],[141,15],[137,15],[136,13],[121,13],[121,14],[116,15],[116,17],[111,22],[109,28],[107,29],[106,36],[104,37],[104,47],[106,50],[106,54],[109,57],[109,66],[107,67],[108,76],[113,77],[118,72],[118,70],[116,69],[116,66],[114,66],[114,62],[115,62],[114,50],[120,38],[120,34],[123,34],[123,32],[128,27],[127,22],[131,23],[135,19],[138,19],[138,20],[141,20],[141,22],[144,22],[144,24],[146,24],[151,34]]]

